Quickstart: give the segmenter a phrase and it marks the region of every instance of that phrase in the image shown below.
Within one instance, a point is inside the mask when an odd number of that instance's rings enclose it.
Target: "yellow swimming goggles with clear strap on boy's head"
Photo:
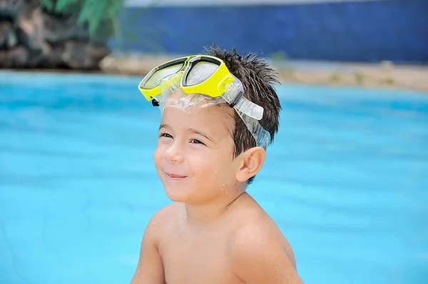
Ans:
[[[257,146],[267,148],[270,144],[270,133],[258,122],[263,108],[243,96],[243,84],[214,56],[197,54],[165,62],[152,69],[138,89],[161,111],[165,106],[186,110],[228,103],[243,119]]]

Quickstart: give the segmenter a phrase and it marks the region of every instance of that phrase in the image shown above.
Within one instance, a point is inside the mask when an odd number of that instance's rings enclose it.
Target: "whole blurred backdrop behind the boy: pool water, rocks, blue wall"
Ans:
[[[277,70],[248,188],[305,283],[428,283],[427,0],[0,0],[0,284],[129,283],[151,216],[154,66]],[[183,255],[185,257],[185,255]]]

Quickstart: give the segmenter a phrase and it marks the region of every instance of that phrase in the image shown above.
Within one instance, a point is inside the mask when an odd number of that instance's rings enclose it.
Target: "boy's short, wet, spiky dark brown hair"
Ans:
[[[243,96],[253,103],[263,107],[263,118],[260,125],[270,133],[270,141],[273,142],[275,133],[279,128],[279,116],[281,111],[280,100],[274,85],[280,83],[277,80],[277,72],[270,68],[266,61],[260,59],[260,54],[238,54],[235,48],[231,51],[220,49],[217,45],[205,48],[206,54],[215,56],[225,62],[230,73],[233,73],[244,87]],[[235,128],[233,130],[233,158],[236,158],[250,148],[257,146],[253,135],[245,126],[244,121],[234,111]],[[248,179],[248,185],[253,182],[255,176]]]

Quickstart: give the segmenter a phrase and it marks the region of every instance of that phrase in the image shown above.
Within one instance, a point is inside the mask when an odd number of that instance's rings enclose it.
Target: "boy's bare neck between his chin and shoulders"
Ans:
[[[228,209],[238,201],[241,196],[245,196],[245,191],[235,194],[228,194],[225,198],[217,198],[209,204],[189,204],[185,203],[186,220],[190,225],[204,226],[220,220]]]

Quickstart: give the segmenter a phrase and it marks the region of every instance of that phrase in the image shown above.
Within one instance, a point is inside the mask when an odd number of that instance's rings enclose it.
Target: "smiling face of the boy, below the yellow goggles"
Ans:
[[[224,106],[163,110],[153,155],[165,193],[172,201],[200,204],[235,186],[234,119]]]

